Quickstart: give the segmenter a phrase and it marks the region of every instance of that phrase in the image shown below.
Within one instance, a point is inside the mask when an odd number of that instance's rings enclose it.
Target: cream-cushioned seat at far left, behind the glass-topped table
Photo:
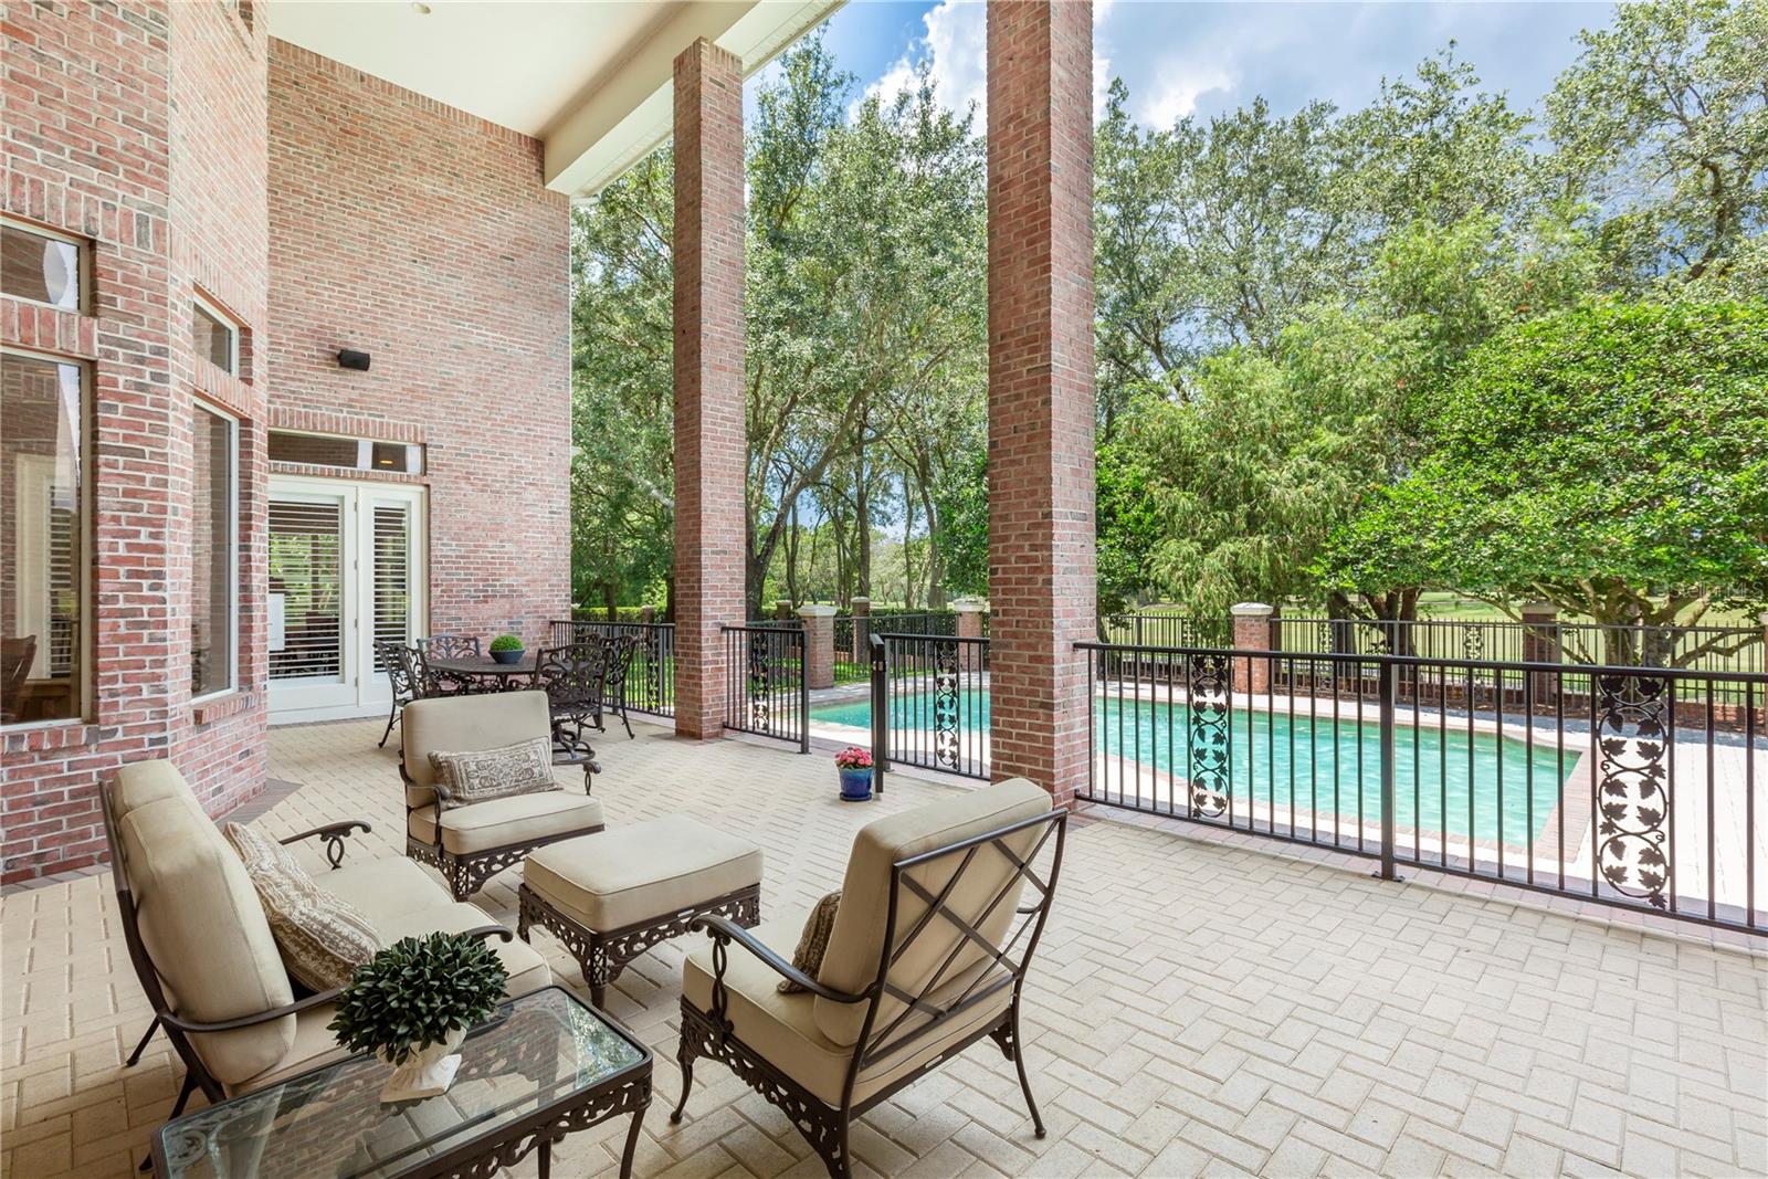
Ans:
[[[99,787],[99,801],[129,958],[186,1066],[173,1117],[196,1089],[217,1101],[341,1055],[325,1029],[338,992],[295,999],[246,868],[184,776],[170,762],[136,762]],[[534,949],[451,900],[412,861],[339,866],[355,831],[368,824],[329,824],[283,843],[327,841],[324,887],[361,909],[382,944],[437,930],[499,937],[511,995],[552,983]]]

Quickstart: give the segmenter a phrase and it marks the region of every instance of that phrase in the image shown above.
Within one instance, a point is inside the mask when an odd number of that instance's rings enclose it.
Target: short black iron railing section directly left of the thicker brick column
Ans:
[[[988,778],[988,640],[872,635],[872,758]]]

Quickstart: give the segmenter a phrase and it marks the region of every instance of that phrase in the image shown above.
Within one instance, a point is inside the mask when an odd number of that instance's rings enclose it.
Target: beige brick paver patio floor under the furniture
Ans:
[[[260,822],[288,834],[362,815],[375,833],[352,856],[398,854],[378,735],[380,721],[272,730],[271,772],[299,790]],[[822,757],[649,725],[599,744],[610,827],[681,810],[750,834],[774,912],[838,884],[857,825],[948,788],[893,776],[886,801],[850,806]],[[863,1119],[859,1174],[1768,1174],[1759,951],[1114,818],[1084,817],[1068,847],[1027,995],[1050,1137],[1031,1137],[1011,1066],[983,1043]],[[516,880],[479,896],[511,926]],[[0,912],[5,1174],[124,1179],[177,1075],[164,1039],[122,1069],[147,1008],[110,879],[16,891]],[[534,937],[583,993],[559,944]],[[716,1064],[668,1124],[681,960],[682,944],[659,947],[610,992],[658,1053],[638,1174],[820,1175]],[[613,1174],[622,1133],[573,1135],[555,1174]]]

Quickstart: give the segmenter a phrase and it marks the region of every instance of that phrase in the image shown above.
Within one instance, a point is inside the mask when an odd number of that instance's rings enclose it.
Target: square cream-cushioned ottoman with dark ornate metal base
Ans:
[[[700,916],[760,921],[762,850],[686,815],[550,843],[522,870],[516,935],[552,930],[583,967],[591,1002],[628,962]]]

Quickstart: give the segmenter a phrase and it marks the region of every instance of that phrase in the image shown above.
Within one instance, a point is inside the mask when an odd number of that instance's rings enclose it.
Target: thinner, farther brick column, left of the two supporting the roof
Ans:
[[[675,732],[718,737],[743,622],[743,64],[675,58]]]

